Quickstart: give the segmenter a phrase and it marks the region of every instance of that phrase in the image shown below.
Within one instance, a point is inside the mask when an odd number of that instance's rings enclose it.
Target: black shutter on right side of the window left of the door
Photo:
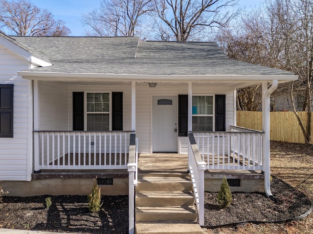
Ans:
[[[112,130],[123,130],[123,93],[112,92]]]

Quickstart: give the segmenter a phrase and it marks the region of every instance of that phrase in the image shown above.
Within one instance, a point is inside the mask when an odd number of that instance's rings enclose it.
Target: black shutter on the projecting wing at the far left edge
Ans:
[[[13,137],[13,87],[0,85],[0,137]]]

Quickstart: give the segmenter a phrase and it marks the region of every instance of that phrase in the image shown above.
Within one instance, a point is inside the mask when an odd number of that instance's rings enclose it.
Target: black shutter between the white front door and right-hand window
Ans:
[[[188,134],[188,95],[178,96],[178,136],[187,137]]]

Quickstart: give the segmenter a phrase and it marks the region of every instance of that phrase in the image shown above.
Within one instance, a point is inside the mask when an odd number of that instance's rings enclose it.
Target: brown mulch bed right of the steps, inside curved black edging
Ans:
[[[310,199],[297,189],[273,176],[273,199],[265,193],[232,193],[232,204],[221,208],[217,193],[205,193],[205,226],[244,221],[281,221],[296,218],[310,210]]]

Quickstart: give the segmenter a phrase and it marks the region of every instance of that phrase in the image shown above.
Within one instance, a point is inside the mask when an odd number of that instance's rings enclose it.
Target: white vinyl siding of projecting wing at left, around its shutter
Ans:
[[[0,180],[29,180],[28,108],[31,81],[22,79],[17,71],[28,68],[28,63],[6,48],[0,46],[0,84],[14,84],[13,138],[0,138]]]

